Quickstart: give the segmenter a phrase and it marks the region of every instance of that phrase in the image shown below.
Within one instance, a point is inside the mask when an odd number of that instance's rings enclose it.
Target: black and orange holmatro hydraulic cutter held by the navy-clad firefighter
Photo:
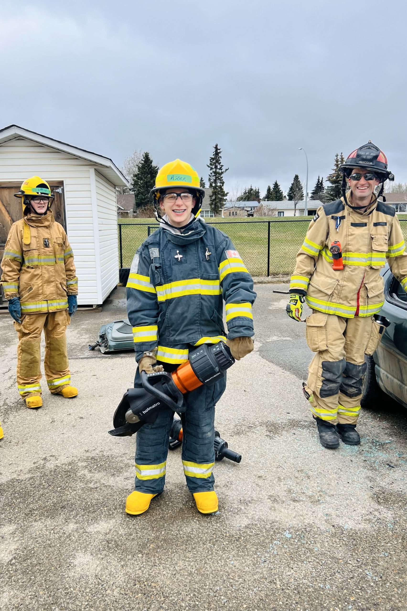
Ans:
[[[203,344],[189,353],[189,360],[172,373],[141,372],[142,388],[130,388],[114,412],[111,435],[133,435],[145,423],[155,422],[158,412],[168,406],[185,411],[183,395],[207,384],[212,386],[235,362],[226,343]]]

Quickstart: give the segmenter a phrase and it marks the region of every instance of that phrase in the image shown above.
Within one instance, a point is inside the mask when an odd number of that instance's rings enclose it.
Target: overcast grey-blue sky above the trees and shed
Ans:
[[[109,156],[177,157],[229,191],[371,139],[407,181],[405,0],[0,0],[1,127]]]

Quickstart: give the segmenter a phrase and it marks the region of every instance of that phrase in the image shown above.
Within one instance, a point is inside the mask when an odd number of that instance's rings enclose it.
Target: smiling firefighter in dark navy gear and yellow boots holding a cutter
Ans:
[[[223,300],[232,356],[241,359],[253,349],[253,281],[227,235],[199,219],[205,195],[199,175],[176,159],[161,167],[151,195],[157,216],[160,210],[165,214],[160,229],[136,252],[127,284],[138,361],[134,387],[141,386],[141,371],[174,371],[194,346],[226,341]],[[226,377],[185,395],[182,463],[201,513],[218,510],[213,422],[225,387]],[[146,511],[163,491],[173,415],[170,408],[161,409],[155,423],[137,433],[136,489],[127,497],[129,514]]]

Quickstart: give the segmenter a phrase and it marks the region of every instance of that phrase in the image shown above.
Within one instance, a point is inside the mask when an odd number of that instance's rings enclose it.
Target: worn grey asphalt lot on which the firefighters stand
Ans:
[[[287,285],[256,285],[255,351],[228,372],[216,428],[240,464],[216,463],[219,511],[197,513],[180,451],[139,517],[134,437],[107,434],[132,385],[132,353],[89,352],[125,317],[124,290],[68,327],[79,397],[28,410],[16,337],[0,316],[0,609],[402,611],[406,606],[407,414],[362,412],[362,445],[326,450],[301,392],[311,353],[288,319]]]

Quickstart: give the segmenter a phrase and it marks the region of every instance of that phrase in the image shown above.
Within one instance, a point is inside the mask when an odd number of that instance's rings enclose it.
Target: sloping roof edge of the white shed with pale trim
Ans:
[[[86,159],[91,164],[97,166],[98,172],[104,176],[112,185],[118,187],[128,187],[129,183],[127,178],[120,172],[119,168],[112,162],[111,159],[97,153],[91,153],[84,148],[78,148],[66,142],[61,142],[38,134],[36,131],[26,130],[24,127],[18,125],[9,125],[0,130],[0,146],[7,141],[14,140],[16,138],[26,138],[34,142],[39,142],[48,147],[56,148],[56,150],[69,153],[75,157]]]

